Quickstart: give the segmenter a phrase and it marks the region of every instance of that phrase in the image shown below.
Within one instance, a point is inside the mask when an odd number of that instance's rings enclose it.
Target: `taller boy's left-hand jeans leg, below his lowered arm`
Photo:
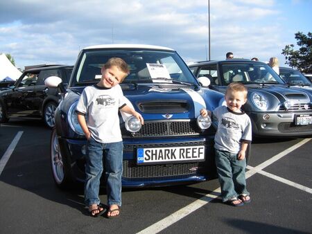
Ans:
[[[85,159],[85,204],[89,207],[100,204],[98,192],[103,172],[103,147],[94,138],[90,138],[87,143]]]

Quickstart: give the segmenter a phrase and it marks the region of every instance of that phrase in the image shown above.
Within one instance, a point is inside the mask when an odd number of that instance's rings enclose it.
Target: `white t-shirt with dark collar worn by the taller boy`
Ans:
[[[86,116],[87,127],[94,140],[100,143],[122,141],[119,109],[125,106],[119,84],[107,89],[97,85],[85,87],[76,111]]]

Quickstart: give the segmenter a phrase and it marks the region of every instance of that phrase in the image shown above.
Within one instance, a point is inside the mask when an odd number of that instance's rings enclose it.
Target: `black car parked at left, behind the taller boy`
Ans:
[[[44,80],[50,76],[62,78],[68,84],[73,66],[40,66],[28,69],[8,89],[0,91],[0,123],[10,118],[42,118],[54,127],[54,111],[60,102],[58,89],[49,89]]]

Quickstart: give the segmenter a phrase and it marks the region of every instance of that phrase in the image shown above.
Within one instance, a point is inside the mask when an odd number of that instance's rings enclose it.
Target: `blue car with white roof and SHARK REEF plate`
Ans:
[[[130,66],[130,74],[120,85],[128,105],[144,117],[140,128],[133,116],[119,116],[123,187],[168,186],[215,178],[215,129],[210,127],[210,118],[200,116],[200,109],[214,110],[223,94],[200,87],[171,48],[114,44],[84,48],[78,55],[67,93],[55,111],[51,136],[55,183],[68,188],[85,179],[87,140],[77,121],[76,105],[83,89],[101,79],[101,67],[111,57],[121,57]],[[49,79],[46,84],[61,85]],[[104,97],[98,102],[109,100]]]

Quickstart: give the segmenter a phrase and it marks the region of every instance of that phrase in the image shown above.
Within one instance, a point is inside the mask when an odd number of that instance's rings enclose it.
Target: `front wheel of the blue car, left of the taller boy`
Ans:
[[[73,188],[75,183],[71,177],[70,166],[62,158],[58,134],[56,134],[55,129],[53,129],[51,134],[50,157],[53,180],[56,186],[67,190]]]

